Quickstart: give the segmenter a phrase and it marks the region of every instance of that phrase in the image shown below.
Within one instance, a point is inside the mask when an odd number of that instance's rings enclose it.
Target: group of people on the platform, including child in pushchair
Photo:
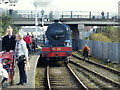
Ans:
[[[19,82],[16,85],[25,85],[27,83],[26,68],[30,69],[29,54],[35,51],[36,46],[34,35],[30,36],[29,33],[24,37],[20,33],[14,35],[12,26],[8,26],[6,35],[2,38],[2,53],[14,53],[14,60],[18,66],[20,76]],[[7,73],[9,69],[5,69],[7,67],[6,63],[7,61],[0,60],[0,74],[3,74],[1,75],[3,76],[2,83],[8,80]]]

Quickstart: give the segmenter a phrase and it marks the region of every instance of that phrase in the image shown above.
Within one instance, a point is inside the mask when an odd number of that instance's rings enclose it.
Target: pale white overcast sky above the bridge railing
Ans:
[[[14,9],[34,10],[34,0],[18,0]],[[39,9],[57,11],[107,11],[117,12],[120,0],[41,0]],[[47,4],[47,5],[46,5]]]

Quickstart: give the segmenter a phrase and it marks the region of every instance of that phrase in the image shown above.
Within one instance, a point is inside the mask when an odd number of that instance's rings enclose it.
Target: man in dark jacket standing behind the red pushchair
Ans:
[[[8,26],[7,34],[2,38],[2,51],[14,51],[15,49],[15,35],[13,35],[13,28]]]

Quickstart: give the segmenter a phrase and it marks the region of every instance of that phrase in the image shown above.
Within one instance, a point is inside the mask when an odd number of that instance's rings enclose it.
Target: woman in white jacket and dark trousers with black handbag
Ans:
[[[19,69],[20,81],[17,85],[25,85],[27,83],[27,75],[25,65],[29,66],[28,63],[28,49],[26,42],[23,40],[21,34],[16,34],[16,46],[15,46],[15,60]],[[28,67],[29,68],[29,67]]]

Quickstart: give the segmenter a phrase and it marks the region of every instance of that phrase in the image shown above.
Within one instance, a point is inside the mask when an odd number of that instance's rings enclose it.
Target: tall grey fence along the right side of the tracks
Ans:
[[[85,44],[91,49],[91,55],[98,59],[111,60],[112,62],[120,62],[120,43],[100,42],[90,40],[73,40],[73,49],[80,50]],[[78,46],[77,46],[78,45]]]

